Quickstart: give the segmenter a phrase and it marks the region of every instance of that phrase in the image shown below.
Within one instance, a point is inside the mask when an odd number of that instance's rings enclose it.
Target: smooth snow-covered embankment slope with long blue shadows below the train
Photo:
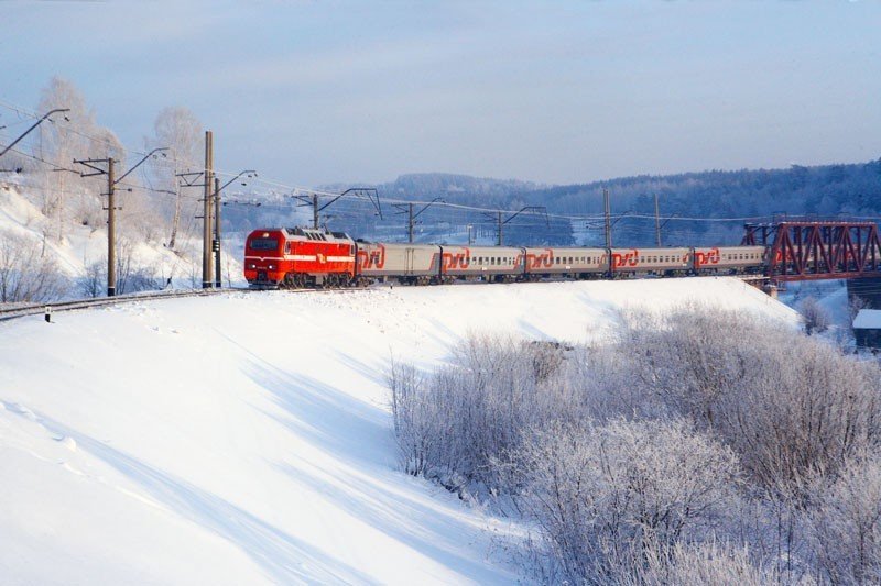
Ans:
[[[740,281],[230,292],[0,323],[6,584],[481,583],[487,520],[396,471],[383,368],[469,331],[579,341]]]

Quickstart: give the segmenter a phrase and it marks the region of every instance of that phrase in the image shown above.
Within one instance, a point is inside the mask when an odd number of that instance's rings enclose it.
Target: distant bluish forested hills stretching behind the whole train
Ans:
[[[341,191],[352,185],[325,186]],[[849,165],[787,169],[708,170],[679,175],[623,177],[590,184],[543,186],[442,173],[402,175],[372,186],[380,195],[382,218],[366,200],[340,200],[322,212],[322,223],[356,237],[406,240],[406,206],[401,201],[432,201],[511,212],[544,207],[548,215],[523,213],[504,224],[504,243],[511,245],[603,245],[602,190],[612,208],[612,245],[654,245],[654,196],[662,222],[662,245],[738,244],[743,218],[769,221],[775,215],[859,217],[881,219],[881,159]],[[415,212],[422,209],[416,204]],[[568,217],[579,217],[577,219]],[[290,203],[262,209],[230,209],[229,228],[311,221],[308,208]],[[589,217],[581,219],[580,217]],[[498,218],[475,210],[434,204],[420,214],[416,242],[461,243],[468,232],[475,242],[492,244]],[[470,229],[468,228],[470,226]]]

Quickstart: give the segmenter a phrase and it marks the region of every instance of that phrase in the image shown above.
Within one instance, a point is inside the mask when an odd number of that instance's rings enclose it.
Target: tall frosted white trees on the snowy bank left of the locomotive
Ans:
[[[196,117],[186,108],[163,109],[143,146],[132,151],[98,123],[95,110],[72,81],[54,77],[42,90],[34,111],[42,114],[54,109],[66,111],[54,114],[3,155],[0,178],[6,181],[0,196],[14,190],[40,213],[29,212],[22,225],[0,230],[0,302],[102,295],[106,256],[89,256],[89,246],[81,251],[81,265],[72,266],[69,255],[64,261],[58,256],[59,247],[83,246],[88,240],[85,234],[104,230],[107,223],[107,177],[80,176],[94,169],[74,159],[112,157],[119,178],[156,147],[164,147],[161,155],[148,158],[117,184],[117,292],[156,289],[171,279],[195,283],[200,194],[182,189],[175,175],[203,166],[204,133]],[[161,250],[176,255],[171,265],[157,259],[161,255],[155,251]]]

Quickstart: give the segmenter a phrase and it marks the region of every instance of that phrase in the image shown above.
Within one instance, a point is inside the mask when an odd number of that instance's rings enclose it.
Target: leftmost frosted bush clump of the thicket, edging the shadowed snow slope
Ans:
[[[563,368],[565,352],[556,345],[474,336],[432,376],[393,365],[389,385],[404,469],[458,475],[493,487],[490,464],[516,446],[522,430],[585,412],[585,394],[569,385]]]

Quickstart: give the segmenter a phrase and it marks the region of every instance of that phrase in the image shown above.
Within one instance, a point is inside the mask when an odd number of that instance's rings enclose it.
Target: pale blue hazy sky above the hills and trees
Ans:
[[[0,0],[0,100],[67,78],[132,148],[186,107],[218,168],[289,185],[881,157],[877,1]]]

